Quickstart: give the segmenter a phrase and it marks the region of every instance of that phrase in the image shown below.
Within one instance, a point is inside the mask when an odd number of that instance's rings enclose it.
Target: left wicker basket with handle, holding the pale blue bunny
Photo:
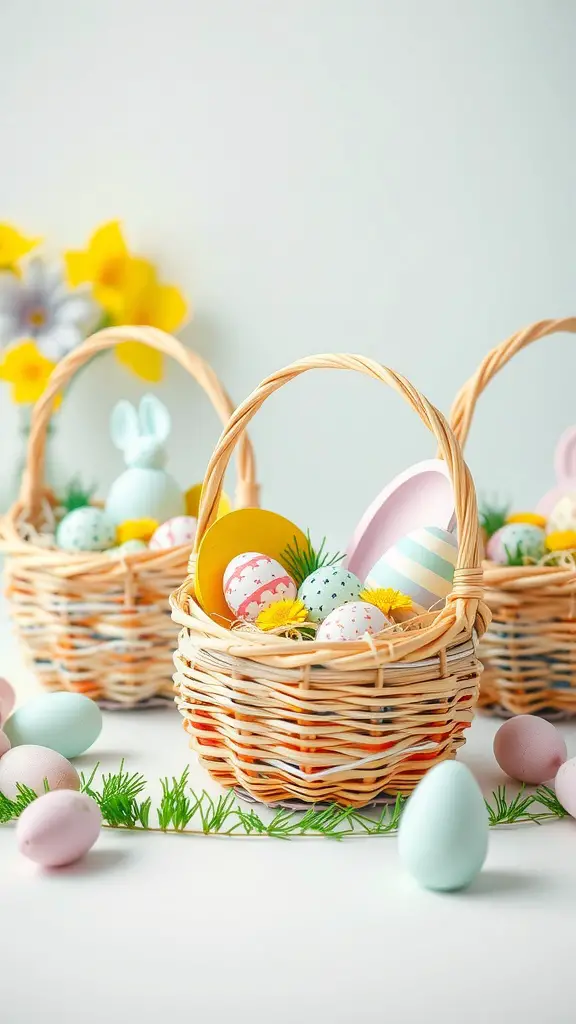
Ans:
[[[43,486],[46,430],[58,390],[92,356],[123,341],[146,342],[170,355],[206,391],[228,422],[234,409],[214,371],[195,352],[153,328],[100,331],[54,370],[34,409],[27,468],[18,500],[2,521],[7,597],[27,660],[48,690],[74,690],[115,706],[173,697],[174,627],[168,597],[187,571],[190,549],[142,551],[111,559],[69,554],[39,544],[35,530],[51,496]],[[257,504],[254,460],[243,438],[238,453],[237,504]],[[30,540],[18,525],[29,523]]]

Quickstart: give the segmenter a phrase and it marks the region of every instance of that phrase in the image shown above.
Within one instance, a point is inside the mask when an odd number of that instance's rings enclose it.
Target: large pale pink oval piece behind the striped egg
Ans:
[[[393,544],[420,526],[456,527],[452,480],[441,459],[410,466],[384,487],[354,531],[346,567],[364,582]]]

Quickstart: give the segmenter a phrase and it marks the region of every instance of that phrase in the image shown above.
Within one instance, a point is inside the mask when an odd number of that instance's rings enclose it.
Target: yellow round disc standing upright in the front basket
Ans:
[[[220,625],[234,622],[222,587],[224,569],[236,555],[257,551],[281,561],[294,538],[301,548],[307,541],[289,519],[265,509],[237,509],[216,519],[202,538],[196,562],[196,597],[204,611]]]

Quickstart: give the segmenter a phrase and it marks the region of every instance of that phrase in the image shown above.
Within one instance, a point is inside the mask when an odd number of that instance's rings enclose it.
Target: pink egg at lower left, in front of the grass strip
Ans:
[[[85,793],[56,790],[23,811],[16,825],[18,850],[42,867],[64,867],[83,857],[96,842],[101,812]]]

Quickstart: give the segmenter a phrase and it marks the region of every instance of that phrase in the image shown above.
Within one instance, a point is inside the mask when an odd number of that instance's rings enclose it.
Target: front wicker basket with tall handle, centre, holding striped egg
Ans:
[[[269,804],[362,806],[409,793],[464,741],[485,631],[476,493],[442,415],[403,377],[358,355],[318,355],[269,377],[232,416],[204,480],[198,543],[214,519],[234,447],[262,402],[307,370],[355,370],[393,387],[436,435],[455,490],[458,567],[442,611],[411,631],[354,643],[230,630],[197,604],[192,577],[171,598],[181,626],[176,702],[191,745],[223,786]],[[194,559],[194,556],[193,556]],[[191,559],[191,568],[192,561]]]

